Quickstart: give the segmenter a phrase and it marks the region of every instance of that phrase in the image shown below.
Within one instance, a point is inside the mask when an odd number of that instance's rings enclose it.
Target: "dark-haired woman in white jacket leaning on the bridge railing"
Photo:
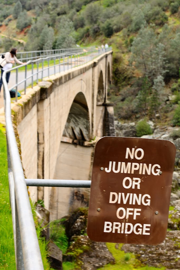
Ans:
[[[26,64],[19,61],[17,58],[16,58],[16,52],[17,52],[17,49],[16,48],[12,48],[11,49],[11,52],[6,52],[5,53],[5,56],[4,56],[4,60],[2,61],[1,63],[1,66],[3,67],[1,69],[1,80],[0,80],[0,92],[1,92],[1,86],[2,86],[2,74],[5,70],[8,70],[8,69],[11,69],[12,68],[12,64],[14,63],[17,63],[17,64]],[[9,82],[9,76],[10,76],[10,72],[7,72],[6,73],[6,82],[8,83]]]

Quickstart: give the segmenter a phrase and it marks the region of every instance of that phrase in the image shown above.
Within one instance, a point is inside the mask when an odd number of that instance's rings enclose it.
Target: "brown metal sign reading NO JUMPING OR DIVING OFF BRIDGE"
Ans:
[[[91,240],[157,245],[165,239],[175,153],[167,140],[97,142],[87,224]]]

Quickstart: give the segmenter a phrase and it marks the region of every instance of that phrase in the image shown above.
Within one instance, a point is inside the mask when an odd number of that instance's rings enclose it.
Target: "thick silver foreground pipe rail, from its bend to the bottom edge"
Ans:
[[[6,73],[7,71],[4,71],[2,80],[4,85],[6,136],[15,187],[17,270],[43,270],[29,195],[11,120],[11,97],[6,82]]]

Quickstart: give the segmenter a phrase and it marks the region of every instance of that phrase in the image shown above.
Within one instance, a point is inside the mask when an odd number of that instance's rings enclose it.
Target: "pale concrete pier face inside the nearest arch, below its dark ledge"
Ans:
[[[89,180],[93,147],[61,142],[54,179]],[[89,188],[51,188],[50,220],[62,218],[73,207],[88,203]]]

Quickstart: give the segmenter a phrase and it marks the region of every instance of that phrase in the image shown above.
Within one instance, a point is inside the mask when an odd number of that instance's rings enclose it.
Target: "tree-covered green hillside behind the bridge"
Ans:
[[[179,0],[4,0],[1,52],[107,42],[114,52],[108,94],[116,119],[180,125],[173,118],[180,111],[179,6]]]

